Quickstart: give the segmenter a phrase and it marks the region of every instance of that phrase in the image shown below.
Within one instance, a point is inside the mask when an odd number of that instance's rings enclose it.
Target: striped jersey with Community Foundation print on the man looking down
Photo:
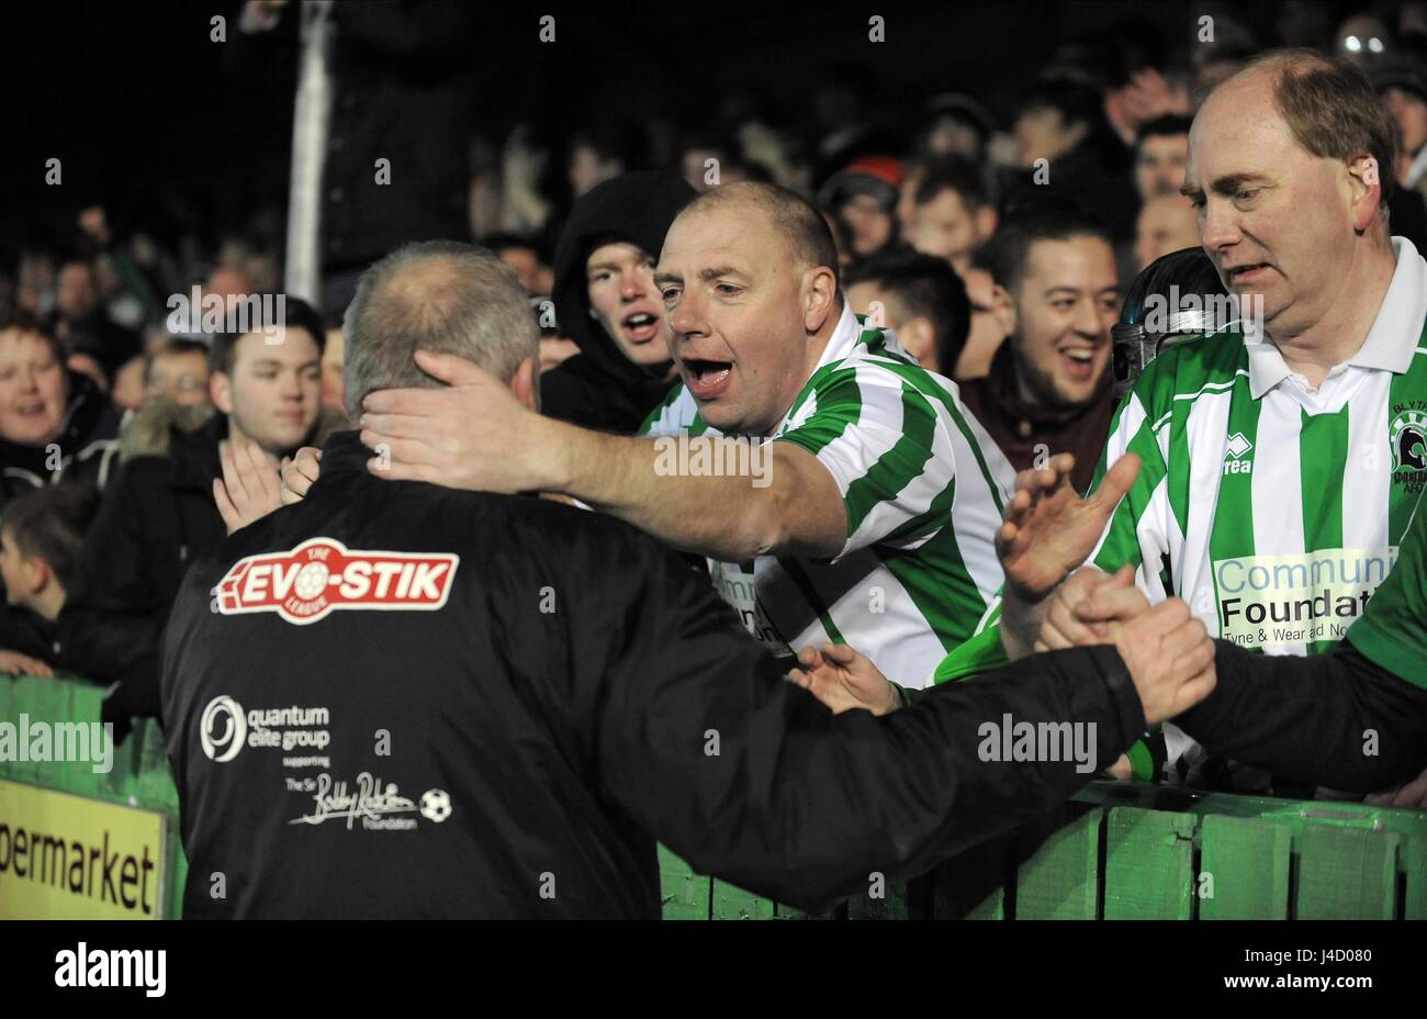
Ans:
[[[1397,270],[1363,347],[1323,385],[1266,337],[1214,334],[1156,358],[1126,394],[1096,482],[1143,460],[1092,561],[1139,567],[1210,634],[1267,654],[1331,648],[1397,558],[1427,464],[1427,261]]]

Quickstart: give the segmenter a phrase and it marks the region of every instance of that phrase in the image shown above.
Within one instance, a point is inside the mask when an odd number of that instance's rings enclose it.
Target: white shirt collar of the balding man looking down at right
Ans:
[[[1427,318],[1427,260],[1417,254],[1417,248],[1406,237],[1393,238],[1393,253],[1397,255],[1397,268],[1373,320],[1373,328],[1344,364],[1403,374],[1413,363],[1423,320]],[[1254,400],[1293,375],[1279,347],[1260,340],[1251,323],[1244,324],[1244,348],[1249,351],[1249,395]]]

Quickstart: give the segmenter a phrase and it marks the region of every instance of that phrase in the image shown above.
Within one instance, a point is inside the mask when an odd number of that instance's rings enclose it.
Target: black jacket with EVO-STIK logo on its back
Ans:
[[[307,500],[195,564],[174,605],[186,916],[656,918],[655,839],[821,908],[1090,778],[980,759],[983,724],[1093,722],[1102,762],[1143,729],[1107,648],[833,716],[648,535],[382,481],[370,455],[332,437]],[[402,555],[458,558],[408,574]]]

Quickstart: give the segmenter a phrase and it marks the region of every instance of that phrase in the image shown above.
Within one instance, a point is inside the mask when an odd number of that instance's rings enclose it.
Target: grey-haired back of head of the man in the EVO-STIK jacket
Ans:
[[[408,244],[368,268],[342,320],[347,412],[372,390],[440,385],[417,350],[454,354],[509,381],[539,328],[515,271],[485,248]]]

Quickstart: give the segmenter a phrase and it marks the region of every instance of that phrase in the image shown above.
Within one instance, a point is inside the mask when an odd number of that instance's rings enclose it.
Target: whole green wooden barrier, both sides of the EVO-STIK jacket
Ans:
[[[0,721],[98,721],[101,689],[0,676]],[[157,722],[138,722],[113,768],[0,761],[0,779],[168,819],[161,901],[186,872],[178,796]],[[659,846],[665,919],[823,919],[695,873]],[[833,919],[1427,919],[1427,813],[1364,803],[1194,794],[1092,782],[1049,816],[909,882],[876,881]]]

